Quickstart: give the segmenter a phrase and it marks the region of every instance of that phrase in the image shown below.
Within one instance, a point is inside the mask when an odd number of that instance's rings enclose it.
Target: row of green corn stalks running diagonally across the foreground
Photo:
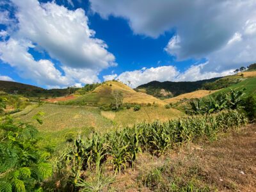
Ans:
[[[100,172],[100,166],[107,163],[113,166],[115,173],[122,172],[127,166],[134,167],[139,152],[147,151],[162,156],[175,145],[202,138],[214,140],[218,132],[227,132],[228,129],[240,127],[246,122],[243,113],[229,110],[164,123],[136,124],[134,127],[111,131],[102,136],[95,133],[84,140],[77,139],[73,146],[59,157],[58,163],[72,168],[70,179],[74,185],[89,188],[87,181],[83,184],[79,182],[86,179],[83,175],[85,170],[96,168],[96,172]],[[156,175],[154,179],[157,180],[157,177]]]

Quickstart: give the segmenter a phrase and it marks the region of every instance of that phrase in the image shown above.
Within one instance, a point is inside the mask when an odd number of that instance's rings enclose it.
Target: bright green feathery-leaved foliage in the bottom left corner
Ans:
[[[38,131],[6,117],[0,124],[0,191],[35,191],[51,176],[50,154],[36,147]]]

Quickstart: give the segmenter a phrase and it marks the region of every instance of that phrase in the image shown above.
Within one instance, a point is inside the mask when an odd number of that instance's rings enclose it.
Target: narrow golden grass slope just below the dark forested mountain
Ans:
[[[182,95],[179,95],[177,97],[173,97],[170,99],[164,99],[164,102],[166,103],[175,103],[175,102],[179,102],[182,99],[195,99],[195,98],[201,98],[201,97],[205,97],[207,95],[210,95],[214,92],[217,92],[218,90],[198,90],[195,92],[191,92],[191,93],[184,93]]]

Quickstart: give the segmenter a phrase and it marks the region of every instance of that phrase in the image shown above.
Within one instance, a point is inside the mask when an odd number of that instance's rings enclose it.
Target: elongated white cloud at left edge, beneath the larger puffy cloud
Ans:
[[[26,40],[10,38],[7,42],[0,42],[0,59],[17,68],[20,76],[34,79],[38,84],[65,86],[70,83],[70,79],[62,76],[51,61],[35,61],[28,52],[29,47],[33,45]]]

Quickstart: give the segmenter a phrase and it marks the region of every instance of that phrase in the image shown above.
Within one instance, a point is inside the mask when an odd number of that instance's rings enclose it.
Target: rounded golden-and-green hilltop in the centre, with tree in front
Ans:
[[[129,86],[118,82],[118,81],[106,81],[100,86],[97,86],[92,92],[88,92],[85,95],[77,97],[76,99],[69,100],[70,102],[81,102],[84,101],[86,103],[91,104],[110,104],[112,98],[111,93],[117,90],[121,92],[124,100],[124,103],[137,103],[137,104],[164,104],[162,100],[153,97],[152,95],[147,95],[147,93],[136,92]]]

